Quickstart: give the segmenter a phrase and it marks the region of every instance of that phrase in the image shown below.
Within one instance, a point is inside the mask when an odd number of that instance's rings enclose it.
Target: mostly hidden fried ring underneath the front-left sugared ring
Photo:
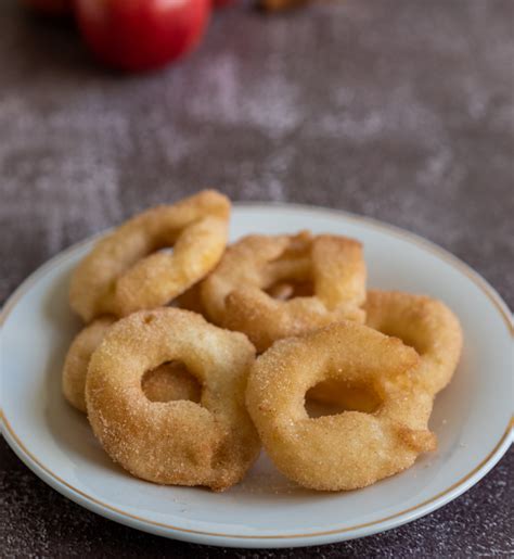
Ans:
[[[89,360],[115,319],[101,317],[83,328],[72,342],[64,361],[62,386],[65,398],[86,412],[86,377]],[[191,399],[200,402],[201,386],[178,361],[164,363],[147,371],[142,380],[144,395],[151,402]]]

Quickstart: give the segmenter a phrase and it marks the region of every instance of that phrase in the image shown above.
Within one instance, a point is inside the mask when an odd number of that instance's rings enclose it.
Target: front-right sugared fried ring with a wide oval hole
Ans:
[[[356,322],[338,322],[275,342],[248,379],[246,404],[273,463],[305,487],[364,487],[433,450],[432,396],[413,390],[416,352]],[[363,386],[380,398],[372,412],[309,418],[306,392],[325,380]]]

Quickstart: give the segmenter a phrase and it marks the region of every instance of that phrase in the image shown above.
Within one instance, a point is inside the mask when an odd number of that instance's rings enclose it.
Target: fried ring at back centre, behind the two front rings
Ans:
[[[309,283],[310,296],[306,289]],[[361,244],[307,231],[241,239],[228,247],[202,284],[202,301],[209,318],[244,332],[259,352],[275,340],[336,320],[362,322],[364,312],[360,306],[364,300]]]

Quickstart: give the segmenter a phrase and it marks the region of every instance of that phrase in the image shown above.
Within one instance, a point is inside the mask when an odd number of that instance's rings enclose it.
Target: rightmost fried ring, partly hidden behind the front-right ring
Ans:
[[[435,396],[451,380],[462,350],[462,329],[440,301],[399,291],[369,291],[367,325],[416,350],[414,378]]]

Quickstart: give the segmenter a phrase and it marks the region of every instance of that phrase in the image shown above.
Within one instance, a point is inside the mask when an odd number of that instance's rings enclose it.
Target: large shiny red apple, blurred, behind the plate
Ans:
[[[75,0],[82,36],[106,64],[152,69],[191,51],[210,15],[211,0]]]

